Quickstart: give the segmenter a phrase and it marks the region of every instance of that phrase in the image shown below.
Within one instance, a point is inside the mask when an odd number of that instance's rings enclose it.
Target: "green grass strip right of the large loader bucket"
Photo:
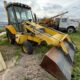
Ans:
[[[72,80],[80,80],[80,30],[77,33],[71,34],[70,36],[77,46],[74,58]]]

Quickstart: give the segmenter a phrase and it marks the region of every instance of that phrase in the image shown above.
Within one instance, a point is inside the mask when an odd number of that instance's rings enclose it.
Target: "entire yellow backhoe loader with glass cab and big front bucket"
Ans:
[[[8,16],[6,34],[10,43],[20,44],[25,53],[32,54],[34,44],[53,46],[41,62],[43,67],[58,80],[70,80],[75,45],[67,34],[36,23],[31,7],[21,3],[6,3]]]

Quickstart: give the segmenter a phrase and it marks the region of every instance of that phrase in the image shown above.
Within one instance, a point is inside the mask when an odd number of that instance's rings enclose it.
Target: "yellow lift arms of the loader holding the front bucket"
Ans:
[[[69,54],[65,42],[72,44],[72,41],[70,40],[67,34],[61,33],[54,29],[40,26],[38,24],[35,24],[34,22],[29,21],[24,22],[23,26],[25,29],[28,29],[33,32],[38,38],[45,41],[48,45],[61,47],[65,55]],[[43,32],[41,32],[40,29],[43,29]]]

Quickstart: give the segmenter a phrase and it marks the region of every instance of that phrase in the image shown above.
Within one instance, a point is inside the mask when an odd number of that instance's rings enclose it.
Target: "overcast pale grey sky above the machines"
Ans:
[[[3,1],[0,0],[0,22],[7,21]],[[6,1],[12,2],[12,0]],[[69,17],[80,18],[80,0],[13,0],[13,2],[30,5],[39,18],[52,17],[65,11],[69,11],[67,14]]]

